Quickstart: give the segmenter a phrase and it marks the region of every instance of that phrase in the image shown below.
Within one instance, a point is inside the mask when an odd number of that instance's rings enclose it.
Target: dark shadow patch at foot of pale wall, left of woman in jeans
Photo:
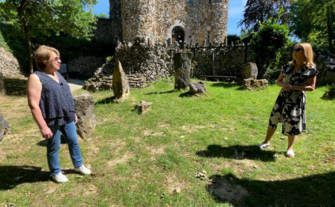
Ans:
[[[26,96],[27,79],[5,77],[3,82],[7,96]]]

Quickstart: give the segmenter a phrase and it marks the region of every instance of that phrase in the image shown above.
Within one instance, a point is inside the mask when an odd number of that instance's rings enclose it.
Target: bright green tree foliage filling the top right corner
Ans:
[[[289,20],[302,41],[335,52],[335,0],[294,0]]]

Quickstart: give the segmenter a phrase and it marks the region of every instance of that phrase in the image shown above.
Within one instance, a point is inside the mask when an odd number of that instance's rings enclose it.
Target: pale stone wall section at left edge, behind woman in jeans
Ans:
[[[0,47],[0,72],[4,77],[21,75],[19,63],[11,52]]]

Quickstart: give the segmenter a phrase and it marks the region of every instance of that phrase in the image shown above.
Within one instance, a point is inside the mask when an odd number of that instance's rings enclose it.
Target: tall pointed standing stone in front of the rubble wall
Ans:
[[[126,98],[130,93],[129,82],[123,72],[120,61],[116,61],[113,70],[113,92],[114,97],[117,99]]]

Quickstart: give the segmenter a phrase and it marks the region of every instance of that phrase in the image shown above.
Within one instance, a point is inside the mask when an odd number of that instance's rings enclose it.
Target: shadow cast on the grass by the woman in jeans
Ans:
[[[46,162],[46,160],[45,160]],[[74,174],[74,170],[62,170],[64,174]],[[50,173],[35,166],[0,166],[0,191],[10,190],[23,183],[51,181]]]

